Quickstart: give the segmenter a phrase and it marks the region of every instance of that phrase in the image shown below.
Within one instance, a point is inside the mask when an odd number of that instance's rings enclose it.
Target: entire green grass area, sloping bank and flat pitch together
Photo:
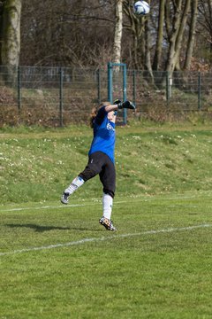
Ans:
[[[0,132],[0,318],[211,318],[210,128],[117,129],[117,232],[98,179],[59,202],[90,138]]]

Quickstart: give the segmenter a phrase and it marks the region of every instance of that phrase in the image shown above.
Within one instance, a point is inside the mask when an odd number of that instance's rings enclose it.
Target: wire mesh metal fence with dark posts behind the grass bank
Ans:
[[[113,97],[124,96],[125,81],[125,97],[136,105],[135,117],[208,111],[212,105],[210,73],[174,72],[170,78],[168,72],[126,70],[125,76],[121,70],[114,70]],[[107,66],[0,66],[0,125],[64,126],[85,122],[93,106],[110,98],[110,84]]]

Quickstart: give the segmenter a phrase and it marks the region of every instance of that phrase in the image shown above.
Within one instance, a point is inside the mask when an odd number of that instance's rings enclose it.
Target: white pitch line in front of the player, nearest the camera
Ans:
[[[53,248],[59,248],[59,247],[68,247],[72,245],[82,245],[82,244],[91,243],[91,242],[102,242],[102,241],[107,241],[111,239],[119,239],[119,238],[125,238],[125,237],[140,237],[145,235],[155,235],[155,234],[170,233],[175,231],[196,230],[196,229],[208,228],[208,227],[212,227],[212,224],[201,224],[201,225],[195,225],[195,226],[188,226],[188,227],[182,227],[182,228],[170,228],[170,229],[164,229],[164,230],[148,230],[148,231],[132,233],[132,234],[113,235],[110,237],[84,238],[84,239],[80,239],[77,241],[72,241],[72,242],[64,243],[64,244],[46,245],[46,246],[40,246],[40,247],[31,247],[31,248],[13,250],[11,252],[4,252],[4,253],[0,253],[0,257],[13,255],[16,253],[28,253],[28,252],[42,251],[42,250],[48,250]]]

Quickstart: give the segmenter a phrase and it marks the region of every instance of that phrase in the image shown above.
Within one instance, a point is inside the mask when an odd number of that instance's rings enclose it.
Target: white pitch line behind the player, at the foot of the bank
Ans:
[[[172,197],[172,198],[160,198],[160,200],[175,200],[175,199],[189,199],[189,198],[196,198],[193,196],[182,196],[182,197]],[[114,200],[114,204],[125,204],[129,203],[129,200],[132,199],[133,201],[152,201],[155,200],[155,197],[151,198],[129,198],[128,200]],[[59,209],[59,208],[70,208],[70,207],[80,207],[80,206],[94,206],[94,205],[102,204],[101,200],[95,199],[95,202],[90,203],[82,203],[82,204],[69,204],[69,205],[58,205],[58,206],[31,206],[31,207],[14,207],[14,208],[6,208],[6,209],[0,209],[0,214],[4,212],[19,212],[19,211],[25,211],[25,210],[42,210],[42,209]]]

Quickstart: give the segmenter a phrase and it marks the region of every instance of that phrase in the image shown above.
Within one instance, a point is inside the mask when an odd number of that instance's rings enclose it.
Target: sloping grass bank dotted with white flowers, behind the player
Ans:
[[[57,200],[87,164],[86,127],[0,134],[1,204]],[[212,140],[208,126],[117,128],[117,193],[160,194],[210,190]],[[74,198],[100,198],[98,178]]]

